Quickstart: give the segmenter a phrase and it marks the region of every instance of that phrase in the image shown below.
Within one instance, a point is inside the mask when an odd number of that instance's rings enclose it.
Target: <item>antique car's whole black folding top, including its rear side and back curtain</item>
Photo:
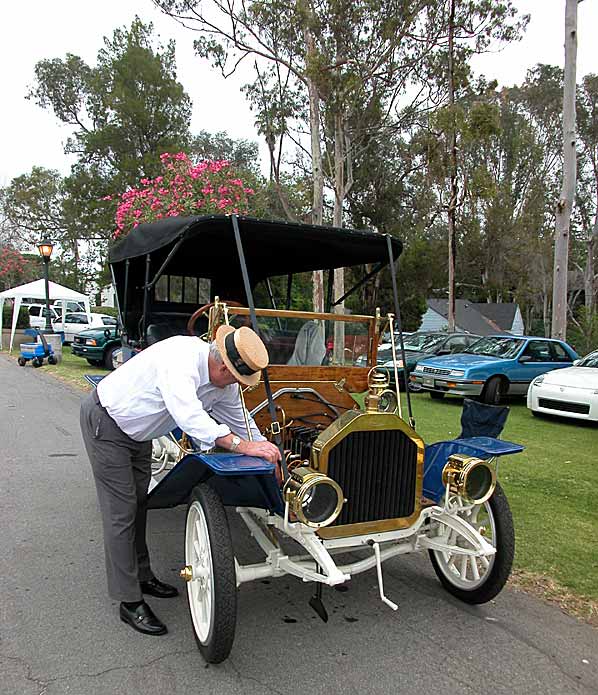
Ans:
[[[188,318],[197,308],[200,294],[195,294],[198,285],[193,283],[192,296],[185,293],[175,302],[168,290],[168,301],[158,300],[152,288],[161,276],[166,276],[168,288],[173,276],[179,283],[183,278],[204,278],[211,299],[219,296],[247,305],[233,220],[228,215],[168,217],[140,224],[114,245],[109,263],[129,336],[144,336],[146,325],[172,322],[175,314]],[[275,276],[364,264],[380,269],[389,261],[387,237],[377,232],[251,217],[237,220],[252,289]],[[396,259],[402,244],[397,239],[391,243]],[[182,286],[186,288],[186,281]]]

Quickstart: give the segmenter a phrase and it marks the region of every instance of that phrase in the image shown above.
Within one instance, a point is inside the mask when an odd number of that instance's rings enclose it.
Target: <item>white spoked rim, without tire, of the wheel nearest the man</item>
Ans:
[[[214,572],[212,548],[206,517],[195,500],[189,507],[185,529],[185,564],[191,567],[187,599],[197,639],[205,644],[212,627],[214,610]]]

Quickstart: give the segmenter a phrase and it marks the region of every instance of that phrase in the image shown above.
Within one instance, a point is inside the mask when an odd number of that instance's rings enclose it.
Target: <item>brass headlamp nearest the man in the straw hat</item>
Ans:
[[[312,528],[331,524],[345,501],[338,483],[307,466],[293,469],[283,494],[291,512],[301,523]]]

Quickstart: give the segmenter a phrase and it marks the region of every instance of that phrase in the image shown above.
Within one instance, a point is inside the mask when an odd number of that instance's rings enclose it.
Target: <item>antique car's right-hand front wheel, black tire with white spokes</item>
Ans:
[[[440,550],[430,550],[430,560],[442,586],[465,603],[486,603],[497,596],[507,582],[515,553],[513,517],[507,497],[497,483],[492,497],[461,515],[465,521],[480,531],[496,548],[491,557],[476,558]],[[450,532],[449,544],[464,545],[467,541]]]

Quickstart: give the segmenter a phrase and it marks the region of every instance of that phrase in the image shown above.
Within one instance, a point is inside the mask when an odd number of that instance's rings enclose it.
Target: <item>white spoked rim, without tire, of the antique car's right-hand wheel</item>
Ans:
[[[459,504],[463,506],[461,500],[459,500]],[[473,526],[476,531],[480,532],[481,529],[484,529],[484,538],[496,548],[496,524],[488,502],[469,508],[463,506],[463,511],[459,513],[459,516]],[[463,536],[447,526],[441,526],[441,537],[447,545],[463,548],[472,547]],[[496,555],[476,557],[442,550],[435,550],[434,555],[440,571],[450,583],[465,591],[473,591],[487,580],[496,558]]]

